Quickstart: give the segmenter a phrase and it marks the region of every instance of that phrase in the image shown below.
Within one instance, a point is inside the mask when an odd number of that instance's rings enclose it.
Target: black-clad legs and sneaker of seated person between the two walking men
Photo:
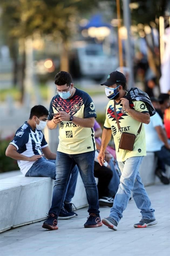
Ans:
[[[113,177],[110,166],[105,162],[104,166],[100,166],[97,160],[98,152],[95,152],[94,159],[94,177],[98,178],[97,189],[100,206],[113,206],[114,198],[108,189],[108,185]]]

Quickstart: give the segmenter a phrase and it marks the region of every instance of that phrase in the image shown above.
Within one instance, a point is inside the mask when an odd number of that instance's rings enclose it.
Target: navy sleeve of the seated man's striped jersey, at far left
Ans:
[[[19,148],[23,147],[29,140],[29,134],[26,130],[18,129],[16,131],[15,137],[13,141],[11,141],[9,144],[12,144],[16,147],[18,150]]]

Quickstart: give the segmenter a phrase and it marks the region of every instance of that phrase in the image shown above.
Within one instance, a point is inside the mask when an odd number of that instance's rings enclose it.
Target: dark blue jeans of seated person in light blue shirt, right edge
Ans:
[[[155,155],[158,157],[158,168],[165,171],[165,164],[170,166],[170,150],[163,146]]]

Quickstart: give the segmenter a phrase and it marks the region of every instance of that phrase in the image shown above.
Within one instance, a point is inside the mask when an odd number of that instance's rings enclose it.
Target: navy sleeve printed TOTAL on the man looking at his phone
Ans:
[[[97,117],[94,103],[91,97],[86,93],[84,98],[84,118]]]

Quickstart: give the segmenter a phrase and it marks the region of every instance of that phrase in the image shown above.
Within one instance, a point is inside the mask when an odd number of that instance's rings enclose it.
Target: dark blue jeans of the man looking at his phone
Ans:
[[[86,189],[87,201],[89,203],[88,212],[99,215],[98,191],[94,179],[94,157],[95,151],[72,155],[57,151],[56,181],[49,214],[54,213],[57,216],[59,215],[60,208],[64,202],[64,194],[70,179],[70,174],[77,164]]]

